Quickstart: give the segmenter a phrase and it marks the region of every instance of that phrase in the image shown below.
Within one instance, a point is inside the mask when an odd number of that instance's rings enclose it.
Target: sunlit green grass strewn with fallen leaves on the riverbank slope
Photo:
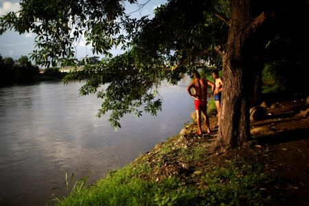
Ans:
[[[95,185],[68,192],[57,205],[268,205],[273,201],[264,188],[273,177],[264,174],[258,162],[236,156],[215,164],[205,156],[205,145],[184,148],[176,145],[179,138],[176,135],[161,148],[109,172]]]

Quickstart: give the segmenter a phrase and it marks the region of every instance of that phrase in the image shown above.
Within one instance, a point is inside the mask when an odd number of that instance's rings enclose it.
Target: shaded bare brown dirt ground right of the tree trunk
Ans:
[[[276,172],[282,179],[282,184],[272,185],[280,191],[278,196],[284,196],[282,205],[309,205],[309,108],[306,100],[275,102],[267,108],[267,114],[265,119],[251,122],[253,140],[250,144],[262,151],[264,170]],[[254,155],[246,147],[238,152]]]

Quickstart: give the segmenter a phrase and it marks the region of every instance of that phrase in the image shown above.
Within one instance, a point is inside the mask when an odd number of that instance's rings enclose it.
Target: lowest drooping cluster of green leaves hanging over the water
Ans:
[[[112,111],[109,119],[112,126],[120,127],[118,120],[126,113],[140,116],[141,106],[144,111],[156,115],[161,109],[157,89],[164,73],[155,65],[147,72],[141,72],[135,67],[134,57],[127,52],[115,58],[104,59],[99,65],[85,65],[81,70],[71,71],[65,77],[65,82],[87,78],[86,84],[80,88],[80,94],[96,93],[98,98],[102,98],[98,116]]]

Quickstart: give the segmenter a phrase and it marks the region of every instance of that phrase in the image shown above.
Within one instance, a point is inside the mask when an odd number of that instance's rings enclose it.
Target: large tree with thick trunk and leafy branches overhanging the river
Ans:
[[[144,110],[155,115],[161,109],[157,87],[162,81],[176,84],[194,69],[222,68],[225,84],[216,148],[247,141],[254,68],[271,49],[297,38],[284,30],[283,22],[305,23],[307,1],[170,0],[157,8],[153,19],[130,18],[126,3],[137,1],[25,0],[20,12],[0,19],[0,32],[37,34],[32,58],[47,66],[74,60],[74,44],[84,36],[93,52],[106,58],[100,65],[72,71],[66,80],[86,78],[80,93],[97,93],[102,98],[98,115],[112,111],[113,126],[120,126],[125,113],[141,115]],[[113,47],[122,47],[124,54],[112,56]]]

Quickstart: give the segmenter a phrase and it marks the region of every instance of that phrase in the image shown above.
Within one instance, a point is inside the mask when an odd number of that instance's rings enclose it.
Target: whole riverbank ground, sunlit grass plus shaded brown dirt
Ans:
[[[68,186],[69,196],[57,204],[306,205],[308,108],[294,104],[270,110],[279,119],[254,124],[255,129],[259,124],[276,128],[276,133],[262,130],[242,148],[225,154],[211,152],[216,130],[196,135],[196,123],[188,124],[182,135],[157,144],[95,185],[85,188],[81,179]],[[307,115],[285,115],[299,108],[307,109]],[[216,124],[215,117],[210,121]]]

